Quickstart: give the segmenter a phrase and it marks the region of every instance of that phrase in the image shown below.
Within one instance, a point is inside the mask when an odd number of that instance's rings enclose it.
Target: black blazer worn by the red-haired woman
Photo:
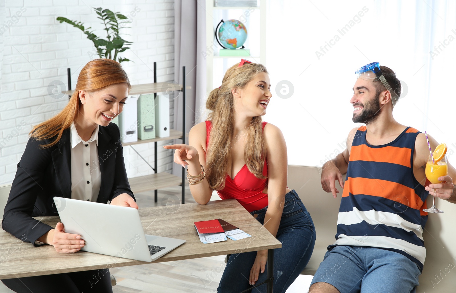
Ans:
[[[57,216],[53,197],[71,198],[70,129],[63,131],[62,138],[54,146],[39,147],[52,140],[29,139],[17,164],[3,215],[3,230],[35,246],[38,246],[35,241],[52,227],[32,217]],[[97,202],[107,203],[121,193],[135,198],[125,171],[119,127],[114,123],[99,126],[98,161],[101,186]]]

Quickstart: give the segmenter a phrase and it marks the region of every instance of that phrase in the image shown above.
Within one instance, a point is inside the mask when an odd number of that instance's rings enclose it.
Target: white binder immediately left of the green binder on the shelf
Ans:
[[[119,115],[120,139],[122,142],[138,141],[138,97],[129,96],[124,111]]]

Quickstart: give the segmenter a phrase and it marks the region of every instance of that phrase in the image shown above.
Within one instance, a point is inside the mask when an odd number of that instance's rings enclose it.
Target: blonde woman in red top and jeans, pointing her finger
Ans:
[[[189,145],[176,149],[174,162],[187,166],[195,201],[209,202],[212,190],[236,198],[274,235],[274,292],[285,292],[308,263],[315,227],[296,192],[286,187],[287,152],[282,132],[263,122],[271,99],[270,81],[261,64],[242,60],[228,69],[211,91],[208,121],[192,127]],[[266,278],[267,250],[231,254],[218,292],[241,292]],[[256,289],[266,292],[266,284]],[[257,292],[257,291],[255,291]]]

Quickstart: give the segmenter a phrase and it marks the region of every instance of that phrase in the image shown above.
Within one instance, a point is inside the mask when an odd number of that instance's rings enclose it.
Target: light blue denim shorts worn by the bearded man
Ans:
[[[406,256],[382,249],[339,245],[325,254],[312,284],[341,293],[415,293],[420,268]]]

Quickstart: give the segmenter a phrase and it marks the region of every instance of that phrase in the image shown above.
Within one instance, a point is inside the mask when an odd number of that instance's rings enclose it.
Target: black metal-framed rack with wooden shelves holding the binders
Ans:
[[[140,95],[140,94],[150,94],[150,93],[159,93],[159,92],[166,92],[167,90],[173,90],[173,91],[182,91],[182,111],[183,111],[183,119],[182,119],[182,131],[176,131],[174,129],[170,129],[170,136],[166,137],[155,137],[153,139],[147,139],[147,140],[140,140],[138,141],[133,141],[133,142],[126,142],[122,143],[122,146],[132,146],[135,144],[140,144],[140,143],[148,143],[148,142],[154,142],[154,167],[152,169],[154,170],[154,174],[150,175],[145,175],[145,176],[140,176],[140,177],[132,177],[128,178],[128,181],[130,183],[130,188],[133,193],[138,193],[138,192],[145,192],[149,190],[155,190],[155,195],[154,195],[154,201],[158,201],[158,193],[157,189],[165,188],[165,187],[171,187],[171,186],[176,186],[180,185],[182,187],[182,202],[185,203],[185,169],[182,168],[182,176],[178,177],[175,175],[172,175],[167,172],[157,172],[157,141],[166,141],[166,140],[171,140],[171,139],[182,139],[182,143],[185,143],[185,90],[191,89],[191,86],[185,86],[185,66],[182,67],[182,85],[180,84],[171,84],[168,82],[156,82],[156,62],[154,62],[154,83],[148,83],[148,84],[142,84],[142,85],[135,85],[131,87],[129,95]],[[68,73],[68,91],[63,92],[64,94],[67,94],[71,96],[73,94],[73,90],[71,90],[71,72],[70,69],[68,68],[67,70]],[[136,152],[136,151],[135,151]],[[140,156],[141,157],[141,156]],[[141,157],[145,162],[147,162],[143,157]],[[147,162],[148,163],[148,162]],[[149,164],[149,163],[148,163]],[[183,184],[184,182],[184,184]]]

